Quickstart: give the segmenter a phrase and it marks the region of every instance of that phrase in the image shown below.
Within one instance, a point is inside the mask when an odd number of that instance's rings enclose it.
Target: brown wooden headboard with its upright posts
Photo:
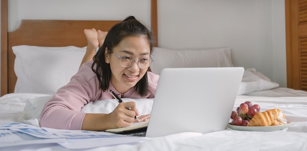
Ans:
[[[157,4],[151,0],[151,28],[157,38]],[[108,31],[121,21],[22,20],[18,29],[8,32],[8,2],[1,0],[1,96],[13,93],[17,77],[12,46],[64,47],[87,45],[84,29]]]

